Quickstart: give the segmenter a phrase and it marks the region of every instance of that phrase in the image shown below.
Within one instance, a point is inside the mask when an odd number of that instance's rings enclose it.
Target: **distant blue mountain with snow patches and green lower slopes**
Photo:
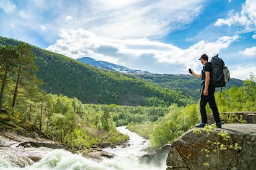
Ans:
[[[116,65],[114,63],[109,63],[105,61],[97,61],[90,57],[82,57],[77,59],[80,62],[87,63],[93,67],[99,68],[101,70],[108,71],[118,71],[120,73],[126,74],[126,76],[142,79],[143,81],[148,81],[149,83],[154,83],[160,85],[161,87],[168,87],[176,91],[182,91],[195,99],[198,98],[200,94],[200,78],[196,78],[191,75],[169,75],[169,74],[154,74],[148,71],[141,70],[132,70],[121,65]],[[226,84],[226,89],[229,89],[231,86],[242,86],[243,82],[240,79],[232,78],[229,83]],[[219,89],[217,88],[217,91]]]

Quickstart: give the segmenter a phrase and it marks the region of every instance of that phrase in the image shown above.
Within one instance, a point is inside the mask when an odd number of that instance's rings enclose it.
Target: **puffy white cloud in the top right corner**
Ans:
[[[245,28],[255,28],[256,26],[256,3],[255,0],[247,0],[242,4],[242,10],[239,13],[234,10],[229,11],[228,18],[219,18],[215,22],[215,26],[222,25],[242,25]]]

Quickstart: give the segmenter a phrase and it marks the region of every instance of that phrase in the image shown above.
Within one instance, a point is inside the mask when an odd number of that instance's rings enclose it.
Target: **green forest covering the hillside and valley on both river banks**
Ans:
[[[4,41],[8,40],[4,39]],[[16,46],[7,43],[0,47],[0,126],[3,126],[3,120],[9,119],[33,123],[40,134],[79,150],[92,146],[114,146],[126,142],[128,137],[119,134],[116,127],[127,125],[132,131],[150,139],[151,147],[160,148],[199,121],[198,100],[192,100],[183,92],[129,78],[119,73],[99,71],[80,62],[66,59],[62,55],[52,55],[50,52],[46,55],[43,50],[35,49],[25,42],[19,42]],[[44,57],[38,57],[40,52]],[[36,62],[38,60],[41,62]],[[54,65],[54,60],[58,62],[55,63],[55,67],[52,66],[51,70],[41,65],[42,63],[45,66]],[[59,69],[62,72],[59,72]],[[45,75],[38,75],[40,70],[43,70]],[[54,71],[59,74],[60,79],[64,79],[63,81],[58,79],[58,87],[53,83],[54,77],[51,78],[53,75],[49,74]],[[69,84],[68,78],[80,71],[83,74],[89,74],[92,79],[98,79],[100,84],[90,84],[93,80],[88,79],[86,81],[88,84],[83,84],[81,80],[81,82],[75,82],[79,84],[78,86],[72,87],[74,85]],[[74,74],[74,76],[79,75],[81,74]],[[220,92],[217,92],[215,98],[220,113],[256,111],[255,81],[255,75],[251,73],[242,86],[231,86],[225,89],[221,97],[218,97]],[[62,84],[64,82],[67,85]],[[119,90],[132,98],[139,96],[135,96],[136,93],[144,97],[146,94],[148,96],[140,100],[140,104],[119,105],[114,101],[123,100],[124,96],[120,96],[117,91],[115,95],[108,92],[111,88],[118,89],[118,86],[111,87],[113,84],[119,84],[121,86]],[[97,95],[96,98],[86,90],[89,86],[95,88],[93,95]],[[85,91],[88,94],[84,94],[86,99],[83,100],[86,101],[88,98],[88,100],[97,99],[97,101],[86,103],[79,97],[75,97],[74,91],[71,95],[74,97],[64,95],[62,92],[66,91],[65,88],[69,89],[71,94],[72,89],[80,88],[80,93]],[[59,92],[54,94],[50,89]],[[208,107],[207,113],[210,112]],[[223,114],[221,116],[225,123],[233,121],[225,119]]]

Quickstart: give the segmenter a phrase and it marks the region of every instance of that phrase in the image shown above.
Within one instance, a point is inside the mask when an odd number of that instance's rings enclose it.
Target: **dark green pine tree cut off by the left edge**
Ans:
[[[15,59],[17,58],[17,54],[14,46],[6,46],[0,49],[0,73],[2,79],[2,86],[0,91],[0,109],[2,108],[2,102],[4,98],[4,89],[7,83],[7,77],[11,71],[13,71],[13,67],[15,65]]]

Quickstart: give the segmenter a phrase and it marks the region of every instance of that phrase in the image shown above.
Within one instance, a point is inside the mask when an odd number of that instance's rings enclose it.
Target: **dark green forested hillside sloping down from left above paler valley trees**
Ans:
[[[17,46],[20,41],[1,37],[0,44]],[[171,103],[186,105],[193,102],[193,98],[184,92],[121,73],[99,70],[35,46],[31,46],[31,49],[39,68],[36,75],[43,80],[40,87],[46,93],[77,97],[83,103],[168,106]]]

